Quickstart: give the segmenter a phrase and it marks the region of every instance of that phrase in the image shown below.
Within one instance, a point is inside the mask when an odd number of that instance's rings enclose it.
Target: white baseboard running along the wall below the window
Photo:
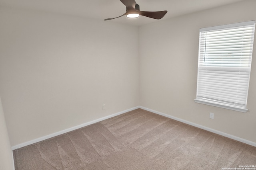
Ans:
[[[144,109],[144,110],[147,110],[147,111],[150,111],[150,112],[152,112],[152,113],[156,113],[156,114],[158,114],[158,115],[162,115],[162,116],[164,116],[164,117],[168,117],[168,118],[170,118],[170,119],[174,119],[174,120],[176,120],[176,121],[180,121],[180,122],[182,122],[182,123],[186,123],[186,124],[188,124],[188,125],[192,125],[192,126],[194,126],[194,127],[198,127],[198,128],[200,128],[200,129],[204,129],[204,130],[206,130],[206,131],[210,131],[210,132],[212,132],[212,133],[216,133],[216,134],[218,134],[218,135],[221,135],[221,136],[224,136],[224,137],[228,137],[228,138],[230,138],[230,139],[234,139],[234,140],[236,140],[236,141],[239,141],[239,142],[242,142],[242,143],[246,143],[246,144],[248,144],[248,145],[252,145],[252,146],[256,147],[256,143],[255,143],[255,142],[248,141],[248,140],[246,140],[246,139],[243,139],[243,138],[240,138],[240,137],[236,137],[236,136],[230,135],[230,134],[228,134],[228,133],[224,133],[224,132],[221,132],[221,131],[217,131],[217,130],[211,129],[211,128],[209,128],[209,127],[205,127],[205,126],[202,126],[202,125],[198,125],[198,124],[196,124],[196,123],[192,123],[192,122],[190,122],[190,121],[186,121],[186,120],[180,119],[180,118],[178,118],[178,117],[174,117],[174,116],[171,116],[171,115],[167,115],[167,114],[161,113],[161,112],[159,112],[159,111],[155,111],[155,110],[152,110],[152,109],[148,109],[148,108],[143,107],[143,106],[140,106],[140,108],[141,108],[141,109]]]

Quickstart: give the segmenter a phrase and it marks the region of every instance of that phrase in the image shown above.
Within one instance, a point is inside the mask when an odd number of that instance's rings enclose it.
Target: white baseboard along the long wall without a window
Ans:
[[[77,126],[74,126],[74,127],[70,127],[68,129],[65,129],[63,131],[59,131],[59,132],[56,132],[56,133],[52,133],[50,135],[46,135],[44,137],[40,137],[40,138],[37,138],[37,139],[34,139],[34,140],[31,140],[31,141],[28,141],[28,142],[25,142],[25,143],[22,143],[22,144],[19,144],[19,145],[15,145],[12,147],[12,150],[15,150],[15,149],[19,149],[19,148],[22,148],[22,147],[26,147],[28,145],[31,145],[31,144],[34,144],[34,143],[37,143],[37,142],[40,142],[40,141],[44,141],[46,139],[49,139],[49,138],[52,138],[52,137],[56,137],[58,135],[62,135],[64,133],[67,133],[67,132],[70,132],[70,131],[74,131],[76,129],[79,129],[81,127],[85,127],[85,126],[88,126],[88,125],[91,125],[93,123],[97,123],[99,121],[103,121],[105,119],[109,119],[111,117],[114,117],[114,116],[117,116],[117,115],[120,115],[120,114],[123,114],[123,113],[126,113],[128,111],[132,111],[132,110],[135,110],[135,109],[138,109],[140,108],[140,106],[137,106],[137,107],[133,107],[133,108],[130,108],[130,109],[127,109],[127,110],[124,110],[124,111],[120,111],[118,113],[114,113],[112,115],[108,115],[108,116],[105,116],[105,117],[102,117],[100,119],[96,119],[96,120],[93,120],[93,121],[89,121],[89,122],[86,122],[86,123],[83,123],[81,125],[77,125]]]

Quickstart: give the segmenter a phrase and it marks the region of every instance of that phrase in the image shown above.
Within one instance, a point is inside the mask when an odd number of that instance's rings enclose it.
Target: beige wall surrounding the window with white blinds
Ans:
[[[256,142],[256,43],[247,113],[194,102],[199,29],[256,20],[255,7],[248,0],[140,27],[140,106]]]

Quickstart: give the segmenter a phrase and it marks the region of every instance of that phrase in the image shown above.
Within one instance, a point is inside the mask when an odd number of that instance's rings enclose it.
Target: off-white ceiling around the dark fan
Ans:
[[[136,3],[140,5],[142,11],[167,10],[167,14],[161,19],[166,20],[238,1],[242,0],[136,0]],[[0,0],[0,6],[43,10],[99,20],[118,17],[126,12],[126,7],[120,0]],[[156,21],[158,20],[144,16],[136,19],[122,16],[105,22],[144,25]]]

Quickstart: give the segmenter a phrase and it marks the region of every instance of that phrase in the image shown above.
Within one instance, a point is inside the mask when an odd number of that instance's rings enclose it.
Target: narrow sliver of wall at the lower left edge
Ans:
[[[0,98],[0,170],[12,170],[12,150]]]

